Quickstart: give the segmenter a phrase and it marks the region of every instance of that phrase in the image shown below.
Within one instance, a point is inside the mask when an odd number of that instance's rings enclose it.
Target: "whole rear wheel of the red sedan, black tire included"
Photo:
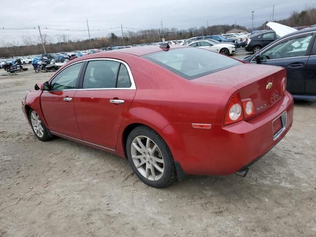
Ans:
[[[151,128],[134,128],[127,137],[125,147],[130,165],[145,184],[162,188],[176,179],[172,154],[165,141]]]

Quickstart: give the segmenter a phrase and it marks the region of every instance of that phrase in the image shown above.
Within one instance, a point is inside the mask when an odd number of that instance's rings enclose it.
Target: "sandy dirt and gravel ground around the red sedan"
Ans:
[[[316,236],[316,103],[295,103],[291,130],[245,178],[154,189],[125,159],[36,139],[21,99],[50,75],[0,70],[0,237]]]

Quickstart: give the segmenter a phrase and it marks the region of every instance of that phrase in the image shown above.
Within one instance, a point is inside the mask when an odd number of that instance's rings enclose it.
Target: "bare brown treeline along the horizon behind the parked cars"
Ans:
[[[289,18],[277,21],[280,24],[295,27],[295,26],[310,26],[316,24],[316,8],[307,8],[301,12],[293,11]],[[266,22],[267,23],[267,22]],[[254,30],[266,29],[266,23]],[[69,52],[74,50],[102,48],[116,45],[132,45],[150,42],[159,42],[163,38],[165,40],[181,40],[188,39],[201,35],[215,35],[226,33],[227,31],[237,28],[250,32],[251,29],[246,29],[240,25],[215,25],[209,27],[189,28],[186,30],[178,30],[177,28],[163,29],[148,29],[137,32],[128,31],[123,33],[123,38],[118,37],[114,33],[101,38],[93,38],[89,40],[70,40],[67,35],[57,35],[49,37],[43,35],[43,41],[47,53],[53,52]],[[14,57],[32,54],[42,54],[43,48],[40,39],[32,41],[22,38],[22,46],[13,46],[4,44],[0,47],[0,57]]]

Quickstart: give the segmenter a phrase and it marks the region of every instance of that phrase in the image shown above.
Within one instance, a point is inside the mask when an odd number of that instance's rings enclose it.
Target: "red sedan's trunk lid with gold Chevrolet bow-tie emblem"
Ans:
[[[285,77],[281,67],[242,64],[192,81],[235,87],[241,99],[252,99],[254,115],[259,115],[281,98],[281,80]]]

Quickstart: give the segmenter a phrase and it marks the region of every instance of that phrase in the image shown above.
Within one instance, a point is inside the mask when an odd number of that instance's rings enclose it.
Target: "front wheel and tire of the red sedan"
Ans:
[[[49,141],[53,135],[45,127],[44,123],[40,120],[39,115],[32,109],[29,111],[29,121],[35,136],[43,142]]]

